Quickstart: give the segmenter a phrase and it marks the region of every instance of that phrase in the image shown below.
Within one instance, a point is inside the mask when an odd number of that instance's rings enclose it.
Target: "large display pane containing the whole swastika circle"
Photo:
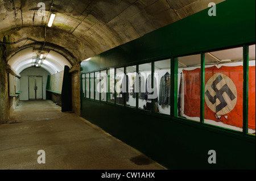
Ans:
[[[204,123],[243,128],[243,48],[205,53]]]

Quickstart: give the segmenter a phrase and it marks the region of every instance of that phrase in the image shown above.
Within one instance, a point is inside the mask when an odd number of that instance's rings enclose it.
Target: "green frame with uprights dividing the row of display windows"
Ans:
[[[90,72],[85,72],[85,73],[81,73],[81,81],[82,81],[82,74],[85,75],[85,98],[81,95],[82,99],[86,99],[86,100],[94,100],[100,103],[105,103],[105,104],[111,104],[114,106],[121,106],[121,107],[125,107],[125,108],[130,108],[134,111],[139,111],[139,112],[143,112],[149,115],[155,115],[156,117],[161,117],[163,119],[166,120],[174,120],[177,121],[179,123],[188,123],[188,124],[196,124],[196,125],[202,125],[205,128],[214,128],[214,129],[218,129],[221,131],[230,131],[232,133],[236,133],[236,134],[243,134],[245,136],[251,136],[251,137],[255,137],[255,134],[250,134],[249,133],[249,125],[248,125],[248,104],[249,104],[249,47],[250,45],[254,45],[254,43],[247,43],[247,44],[243,44],[243,45],[236,45],[233,47],[222,47],[222,48],[218,48],[218,49],[209,49],[209,50],[204,50],[201,52],[194,52],[194,53],[190,53],[190,54],[177,54],[174,55],[172,54],[172,56],[166,56],[166,57],[162,57],[158,60],[156,59],[150,59],[150,60],[144,60],[144,61],[140,61],[140,62],[136,62],[133,64],[127,64],[125,66],[114,66],[111,68],[105,68],[105,69],[101,69],[98,70],[101,74],[101,71],[106,71],[107,74],[107,79],[108,79],[108,83],[110,81],[110,70],[114,69],[114,85],[116,84],[117,80],[116,80],[116,74],[117,74],[117,69],[118,68],[124,68],[124,73],[125,75],[126,73],[126,68],[129,66],[136,66],[136,73],[139,74],[139,65],[143,65],[143,64],[151,64],[151,76],[152,76],[152,85],[154,85],[154,76],[155,76],[155,62],[158,61],[162,61],[162,60],[167,60],[170,59],[171,61],[171,104],[173,106],[170,107],[170,115],[164,114],[164,113],[160,113],[160,112],[155,112],[155,100],[152,100],[151,104],[152,104],[152,110],[151,111],[147,111],[147,110],[142,110],[141,108],[139,108],[139,93],[136,92],[136,107],[130,107],[127,106],[127,102],[126,102],[126,94],[129,94],[128,92],[125,92],[125,102],[124,105],[122,104],[117,104],[117,92],[114,89],[114,103],[109,101],[109,96],[110,96],[110,92],[108,90],[108,92],[106,93],[106,101],[102,101],[101,100],[101,92],[100,92],[100,100],[95,100],[95,73],[98,71],[90,71]],[[212,52],[212,51],[217,51],[217,50],[225,50],[225,49],[230,49],[230,48],[238,48],[238,47],[243,47],[243,129],[242,132],[236,131],[234,129],[229,129],[229,128],[224,128],[224,127],[218,127],[216,125],[209,125],[204,123],[204,107],[205,107],[205,98],[204,98],[204,92],[205,92],[205,53],[207,52]],[[177,103],[178,103],[178,65],[179,65],[179,57],[183,57],[183,56],[190,56],[193,54],[201,54],[201,87],[200,87],[200,123],[197,121],[193,121],[190,119],[185,119],[183,117],[178,117],[177,116]],[[89,80],[90,80],[90,74],[94,73],[94,99],[90,99],[90,95],[91,95],[91,91],[90,91],[90,87],[91,87],[91,82],[89,81],[89,98],[86,98],[86,94],[87,94],[87,85],[86,85],[86,74],[89,74]],[[101,82],[101,79],[100,79]],[[109,86],[109,85],[108,85]],[[108,87],[110,89],[110,87]],[[81,89],[82,90],[82,89]],[[81,91],[82,92],[82,91]]]

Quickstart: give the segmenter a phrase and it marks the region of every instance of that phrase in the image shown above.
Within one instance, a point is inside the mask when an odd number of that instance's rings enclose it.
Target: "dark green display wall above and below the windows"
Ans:
[[[255,44],[255,1],[224,1],[217,16],[208,10],[81,62],[81,74]],[[85,98],[81,115],[168,169],[255,169],[249,134]],[[209,150],[216,151],[216,164],[208,163]]]

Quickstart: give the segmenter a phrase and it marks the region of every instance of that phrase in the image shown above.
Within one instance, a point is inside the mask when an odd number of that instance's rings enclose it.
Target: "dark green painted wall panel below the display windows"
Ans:
[[[86,99],[82,104],[82,116],[168,169],[255,168],[255,139],[245,141],[235,134],[227,136],[114,104]],[[217,165],[208,163],[212,149],[217,152]]]

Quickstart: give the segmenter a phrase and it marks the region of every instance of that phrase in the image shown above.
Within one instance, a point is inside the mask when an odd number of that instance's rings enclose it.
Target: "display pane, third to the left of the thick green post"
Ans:
[[[136,107],[137,94],[135,92],[135,78],[137,77],[137,66],[129,66],[126,68],[126,77],[128,81],[127,94],[126,94],[126,106]]]

